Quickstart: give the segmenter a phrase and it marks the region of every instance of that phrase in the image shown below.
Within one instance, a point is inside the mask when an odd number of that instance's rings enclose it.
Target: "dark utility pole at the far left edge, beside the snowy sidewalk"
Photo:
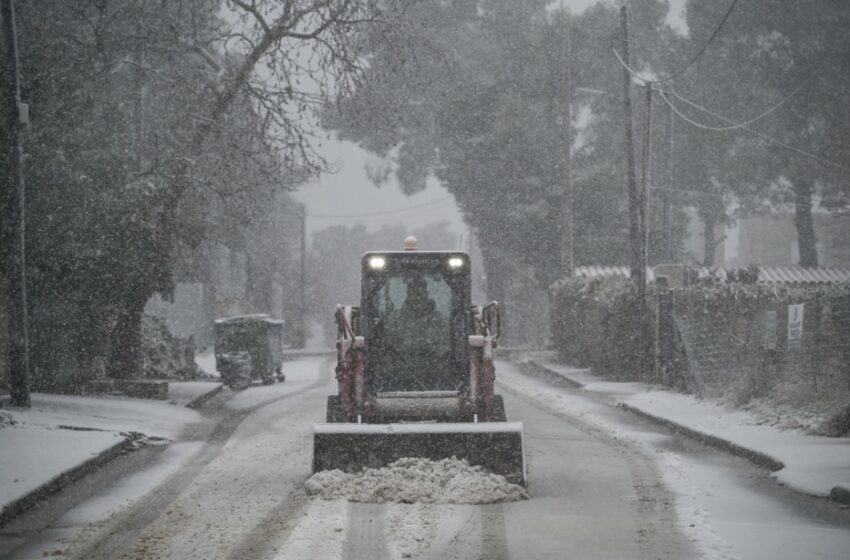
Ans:
[[[21,104],[20,70],[18,68],[18,38],[15,29],[13,0],[2,0],[0,18],[3,25],[3,52],[6,77],[3,83],[5,115],[3,128],[7,131],[3,154],[8,165],[7,177],[13,188],[3,196],[2,249],[3,270],[6,275],[9,325],[9,386],[12,406],[29,407],[29,338],[27,325],[26,248],[23,146],[21,129],[25,106]]]

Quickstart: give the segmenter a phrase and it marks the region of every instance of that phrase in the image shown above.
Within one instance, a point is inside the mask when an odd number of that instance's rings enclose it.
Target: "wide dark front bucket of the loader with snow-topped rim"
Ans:
[[[359,472],[403,457],[456,457],[525,485],[521,422],[314,424],[313,472]]]

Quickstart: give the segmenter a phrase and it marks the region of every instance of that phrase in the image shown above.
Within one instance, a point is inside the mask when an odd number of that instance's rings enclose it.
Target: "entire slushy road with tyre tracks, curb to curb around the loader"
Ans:
[[[529,500],[308,496],[312,423],[324,416],[333,367],[305,357],[286,368],[286,383],[217,397],[208,429],[116,475],[9,558],[761,559],[850,550],[846,527],[777,498],[743,460],[507,363],[497,371],[508,419],[525,426]]]

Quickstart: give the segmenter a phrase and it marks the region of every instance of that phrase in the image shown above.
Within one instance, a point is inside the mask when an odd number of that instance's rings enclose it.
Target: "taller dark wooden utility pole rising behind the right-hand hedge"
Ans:
[[[629,56],[629,16],[626,6],[620,8],[620,38],[622,57],[627,66],[631,66]],[[626,129],[626,189],[629,195],[629,268],[632,281],[643,294],[646,282],[646,268],[642,267],[641,258],[643,243],[641,242],[642,230],[640,225],[640,195],[637,186],[637,173],[635,171],[635,130],[634,117],[632,115],[632,76],[628,68],[623,67],[623,119]]]

